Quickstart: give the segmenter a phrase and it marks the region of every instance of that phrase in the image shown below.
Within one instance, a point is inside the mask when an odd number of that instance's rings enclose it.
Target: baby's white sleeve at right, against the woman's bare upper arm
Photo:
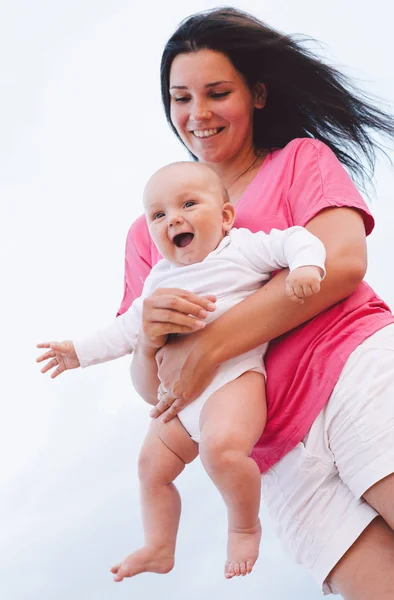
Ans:
[[[242,235],[245,236],[242,250],[260,272],[285,267],[294,271],[298,267],[313,265],[319,267],[325,277],[324,244],[304,227],[289,227],[283,231],[272,229],[269,234],[242,230]]]

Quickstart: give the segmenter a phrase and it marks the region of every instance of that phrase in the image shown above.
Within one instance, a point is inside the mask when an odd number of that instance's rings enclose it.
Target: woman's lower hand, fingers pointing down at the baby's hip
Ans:
[[[206,330],[208,331],[208,329]],[[212,336],[205,331],[170,340],[156,354],[159,402],[151,417],[165,423],[195,400],[211,383],[218,363],[212,350]]]

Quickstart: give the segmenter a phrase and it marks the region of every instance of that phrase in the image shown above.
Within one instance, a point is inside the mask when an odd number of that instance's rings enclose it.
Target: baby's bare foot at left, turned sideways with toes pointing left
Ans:
[[[174,566],[174,554],[168,548],[144,546],[111,569],[114,581],[134,577],[139,573],[169,573]]]

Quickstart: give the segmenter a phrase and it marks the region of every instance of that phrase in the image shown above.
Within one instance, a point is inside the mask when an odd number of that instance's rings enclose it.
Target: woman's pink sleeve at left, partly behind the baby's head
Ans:
[[[127,234],[124,294],[117,316],[126,312],[133,300],[141,295],[144,281],[151,268],[151,241],[145,216],[142,215],[134,221]]]

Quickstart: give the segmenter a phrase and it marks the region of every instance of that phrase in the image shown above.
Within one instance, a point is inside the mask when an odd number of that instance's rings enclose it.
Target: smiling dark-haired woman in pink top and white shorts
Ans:
[[[392,598],[394,318],[362,281],[373,219],[339,161],[362,175],[364,155],[372,172],[368,129],[392,135],[393,120],[291,38],[234,9],[186,19],[165,47],[161,77],[170,126],[221,177],[235,225],[307,227],[326,246],[327,277],[294,308],[280,272],[202,331],[169,340],[156,355],[162,389],[152,416],[170,420],[218,365],[274,340],[268,422],[252,456],[279,536],[326,593]],[[120,312],[158,259],[137,220]],[[182,290],[145,302],[132,377],[152,403],[155,338],[192,331],[204,302]]]

